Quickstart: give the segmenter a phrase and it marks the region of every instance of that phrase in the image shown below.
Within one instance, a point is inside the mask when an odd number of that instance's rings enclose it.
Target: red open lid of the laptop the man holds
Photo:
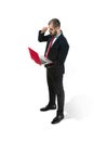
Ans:
[[[41,61],[40,61],[40,59],[39,59],[38,53],[37,53],[36,51],[33,51],[32,49],[30,49],[30,48],[28,48],[28,50],[29,50],[29,53],[30,53],[31,59],[32,59],[37,64],[41,65]]]

